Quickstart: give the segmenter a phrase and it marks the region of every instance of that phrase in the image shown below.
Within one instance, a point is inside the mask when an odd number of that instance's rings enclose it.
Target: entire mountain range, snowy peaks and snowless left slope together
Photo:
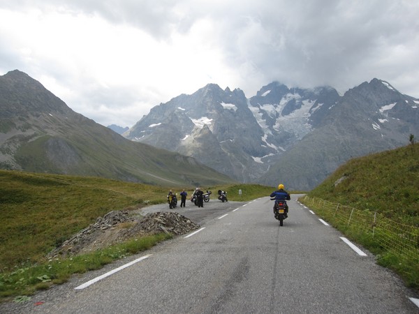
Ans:
[[[343,96],[272,82],[247,98],[207,84],[156,105],[121,136],[14,70],[0,76],[0,168],[311,190],[353,157],[408,144],[419,133],[418,104],[378,79]]]

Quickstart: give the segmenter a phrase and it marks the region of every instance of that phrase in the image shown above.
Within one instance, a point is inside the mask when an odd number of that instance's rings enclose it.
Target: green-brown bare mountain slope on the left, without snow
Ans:
[[[0,76],[0,168],[161,186],[233,182],[193,157],[96,124],[19,70]]]

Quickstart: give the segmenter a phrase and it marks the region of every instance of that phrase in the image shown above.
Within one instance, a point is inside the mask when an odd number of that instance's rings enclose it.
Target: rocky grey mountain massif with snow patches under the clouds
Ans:
[[[419,133],[418,104],[377,79],[344,96],[272,82],[246,98],[208,84],[154,107],[124,136],[239,181],[310,189],[351,157],[406,144]]]

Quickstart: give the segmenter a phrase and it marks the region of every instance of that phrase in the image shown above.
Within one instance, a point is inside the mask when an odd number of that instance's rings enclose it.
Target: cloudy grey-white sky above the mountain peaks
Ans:
[[[374,77],[419,98],[416,0],[0,0],[0,75],[133,126],[208,83],[339,93]]]

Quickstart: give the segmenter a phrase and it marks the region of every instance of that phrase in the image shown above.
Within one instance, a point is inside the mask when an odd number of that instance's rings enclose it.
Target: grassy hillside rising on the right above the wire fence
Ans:
[[[419,227],[419,144],[353,158],[309,196]]]

